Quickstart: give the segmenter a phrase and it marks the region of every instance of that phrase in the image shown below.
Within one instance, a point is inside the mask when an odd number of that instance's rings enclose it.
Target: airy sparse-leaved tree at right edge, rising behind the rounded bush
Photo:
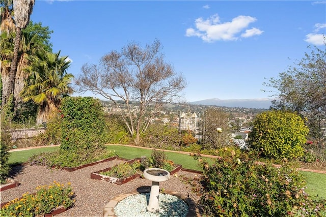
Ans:
[[[278,97],[273,108],[308,117],[310,136],[320,138],[322,121],[326,118],[326,45],[308,48],[310,53],[264,85],[278,90],[273,95]]]

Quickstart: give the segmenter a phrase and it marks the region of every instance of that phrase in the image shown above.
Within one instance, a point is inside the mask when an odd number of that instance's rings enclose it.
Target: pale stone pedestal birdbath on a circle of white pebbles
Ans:
[[[170,179],[170,173],[167,170],[159,168],[149,168],[144,170],[144,177],[152,181],[151,192],[149,194],[149,203],[147,206],[147,211],[156,212],[159,211],[159,182],[167,181]]]

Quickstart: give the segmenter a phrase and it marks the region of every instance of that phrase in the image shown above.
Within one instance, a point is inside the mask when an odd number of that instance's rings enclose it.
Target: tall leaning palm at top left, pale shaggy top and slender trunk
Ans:
[[[6,104],[7,99],[9,98],[9,94],[14,92],[15,89],[15,77],[18,63],[18,51],[21,41],[21,30],[25,28],[26,25],[29,23],[34,4],[35,0],[13,0],[14,20],[16,23],[16,36],[14,54],[9,72],[8,92],[6,93],[7,96],[5,95],[3,97],[3,105]]]

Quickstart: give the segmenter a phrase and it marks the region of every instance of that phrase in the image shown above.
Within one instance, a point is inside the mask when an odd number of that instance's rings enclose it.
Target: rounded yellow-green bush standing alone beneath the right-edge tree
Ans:
[[[275,159],[300,158],[309,132],[303,119],[288,111],[266,111],[258,114],[249,133],[249,145]]]

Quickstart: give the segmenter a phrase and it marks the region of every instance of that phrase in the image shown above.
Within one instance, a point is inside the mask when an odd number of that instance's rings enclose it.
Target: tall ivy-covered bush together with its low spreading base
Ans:
[[[47,138],[55,141],[61,135],[59,151],[40,153],[30,158],[31,164],[47,167],[76,167],[115,155],[105,149],[105,119],[101,104],[90,97],[69,97],[62,101],[61,120],[53,120],[60,126],[57,134],[55,125]]]

